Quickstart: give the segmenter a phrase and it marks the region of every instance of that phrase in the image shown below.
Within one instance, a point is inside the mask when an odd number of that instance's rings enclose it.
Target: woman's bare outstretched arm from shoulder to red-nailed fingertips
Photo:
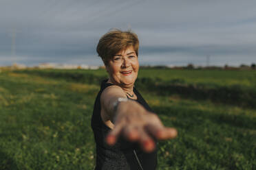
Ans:
[[[152,112],[147,111],[136,101],[127,99],[125,93],[118,86],[106,88],[101,96],[103,105],[103,121],[111,121],[114,128],[109,132],[106,141],[114,145],[118,136],[122,135],[129,141],[138,141],[145,151],[153,151],[153,138],[160,140],[175,138],[174,128],[164,127],[162,122]]]

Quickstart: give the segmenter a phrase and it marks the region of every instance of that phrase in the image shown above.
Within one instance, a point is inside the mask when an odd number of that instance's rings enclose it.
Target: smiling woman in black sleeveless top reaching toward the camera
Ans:
[[[98,56],[109,79],[101,84],[92,115],[96,169],[156,169],[156,139],[177,135],[175,129],[162,125],[134,88],[138,47],[136,34],[118,29],[98,42]]]

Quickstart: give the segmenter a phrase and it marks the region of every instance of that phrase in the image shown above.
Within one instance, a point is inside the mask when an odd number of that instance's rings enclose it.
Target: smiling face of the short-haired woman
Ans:
[[[106,66],[110,81],[121,87],[134,86],[138,76],[138,56],[134,47],[119,51]]]

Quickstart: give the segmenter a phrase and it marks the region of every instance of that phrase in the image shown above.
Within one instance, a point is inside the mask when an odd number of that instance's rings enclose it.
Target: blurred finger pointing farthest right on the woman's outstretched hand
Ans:
[[[153,125],[149,124],[146,126],[147,132],[153,135],[155,138],[164,140],[168,138],[175,138],[178,132],[174,128],[171,127],[164,127],[161,124]]]

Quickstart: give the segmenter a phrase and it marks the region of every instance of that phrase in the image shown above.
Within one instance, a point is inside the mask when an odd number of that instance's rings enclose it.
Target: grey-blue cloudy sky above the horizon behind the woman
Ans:
[[[103,65],[111,28],[140,40],[140,65],[256,62],[255,0],[0,0],[0,66]]]

